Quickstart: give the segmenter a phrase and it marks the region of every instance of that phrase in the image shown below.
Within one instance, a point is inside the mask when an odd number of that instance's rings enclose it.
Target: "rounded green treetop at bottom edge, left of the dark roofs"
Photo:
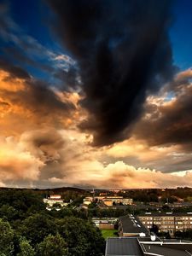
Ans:
[[[39,256],[66,256],[68,255],[67,242],[57,233],[56,236],[46,236],[38,244]]]

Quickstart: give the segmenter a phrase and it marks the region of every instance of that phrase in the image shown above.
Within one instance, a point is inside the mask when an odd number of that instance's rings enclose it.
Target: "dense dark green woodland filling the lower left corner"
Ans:
[[[0,256],[103,255],[105,241],[81,211],[47,211],[42,195],[0,190]]]

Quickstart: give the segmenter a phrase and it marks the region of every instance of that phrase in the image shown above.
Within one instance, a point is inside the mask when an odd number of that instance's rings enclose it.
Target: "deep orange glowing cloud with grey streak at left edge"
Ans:
[[[18,79],[0,70],[0,125],[5,136],[73,125],[79,119],[78,101],[76,93],[61,93],[40,81]]]

